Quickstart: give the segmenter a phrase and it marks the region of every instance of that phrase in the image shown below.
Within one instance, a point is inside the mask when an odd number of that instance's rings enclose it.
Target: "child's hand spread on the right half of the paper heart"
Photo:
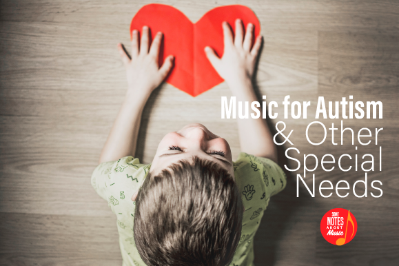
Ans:
[[[253,32],[254,25],[248,23],[244,37],[243,23],[241,19],[237,19],[236,36],[234,38],[229,24],[223,22],[223,37],[225,43],[223,57],[221,59],[218,58],[212,48],[209,46],[205,47],[205,53],[210,63],[214,66],[218,74],[225,79],[230,88],[234,88],[237,84],[243,84],[243,82],[246,83],[252,80],[256,57],[258,57],[260,44],[262,43],[262,37],[259,35],[252,48]]]

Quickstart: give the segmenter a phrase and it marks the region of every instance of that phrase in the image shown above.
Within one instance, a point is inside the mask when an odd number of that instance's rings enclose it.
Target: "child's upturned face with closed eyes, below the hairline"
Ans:
[[[192,161],[193,156],[218,163],[234,177],[229,143],[199,123],[166,134],[158,145],[150,172],[157,174],[182,159]]]

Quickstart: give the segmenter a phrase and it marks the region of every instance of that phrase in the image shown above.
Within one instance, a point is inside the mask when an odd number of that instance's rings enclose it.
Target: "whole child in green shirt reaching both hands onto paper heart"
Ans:
[[[249,23],[244,34],[237,19],[233,37],[225,22],[223,57],[205,48],[238,101],[256,101],[252,78],[262,40],[252,47],[253,30]],[[140,46],[132,32],[131,59],[118,44],[128,89],[92,174],[92,186],[116,214],[123,265],[254,265],[254,234],[270,196],[286,184],[269,128],[264,119],[237,119],[243,152],[233,162],[225,139],[186,125],[166,134],[150,165],[141,164],[134,158],[141,112],[173,64],[170,56],[158,68],[162,34],[149,47],[148,32],[143,27]]]

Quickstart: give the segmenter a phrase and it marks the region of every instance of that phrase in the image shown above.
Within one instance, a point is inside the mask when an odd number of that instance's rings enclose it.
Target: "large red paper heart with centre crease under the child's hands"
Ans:
[[[181,11],[172,6],[152,3],[143,6],[130,24],[132,30],[150,27],[152,38],[156,32],[163,32],[163,48],[160,65],[165,57],[173,54],[174,68],[167,83],[192,96],[197,96],[223,82],[205,56],[205,46],[214,48],[216,54],[223,54],[222,22],[227,21],[234,30],[234,21],[241,19],[244,25],[253,23],[255,36],[260,32],[260,23],[252,10],[246,6],[221,6],[209,10],[199,21],[192,23]]]

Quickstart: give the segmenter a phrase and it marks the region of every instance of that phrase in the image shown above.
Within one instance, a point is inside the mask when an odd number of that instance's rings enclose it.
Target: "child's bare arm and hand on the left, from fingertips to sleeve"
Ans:
[[[101,151],[99,163],[134,156],[144,105],[151,92],[165,79],[173,64],[173,57],[169,56],[161,68],[158,67],[161,39],[162,34],[158,32],[149,49],[149,29],[145,26],[139,46],[139,32],[133,30],[130,57],[122,44],[118,43],[118,50],[126,68],[128,88],[121,110]]]

